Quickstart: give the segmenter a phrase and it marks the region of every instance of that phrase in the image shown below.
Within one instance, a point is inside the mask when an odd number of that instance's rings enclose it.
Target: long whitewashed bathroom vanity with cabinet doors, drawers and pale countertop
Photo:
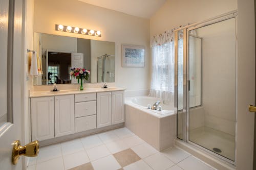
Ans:
[[[124,89],[30,93],[31,139],[43,144],[123,126]],[[116,126],[114,126],[116,125]]]

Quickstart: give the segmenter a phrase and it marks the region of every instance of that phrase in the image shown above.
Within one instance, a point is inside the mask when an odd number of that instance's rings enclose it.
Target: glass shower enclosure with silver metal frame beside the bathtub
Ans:
[[[235,163],[237,14],[175,31],[177,138]]]

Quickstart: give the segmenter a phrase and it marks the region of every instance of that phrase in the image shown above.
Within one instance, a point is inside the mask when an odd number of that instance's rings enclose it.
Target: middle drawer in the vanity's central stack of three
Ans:
[[[75,116],[90,116],[96,114],[96,101],[75,103]]]

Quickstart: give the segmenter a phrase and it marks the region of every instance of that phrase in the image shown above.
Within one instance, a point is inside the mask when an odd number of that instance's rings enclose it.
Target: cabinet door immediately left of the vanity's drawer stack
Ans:
[[[55,137],[75,133],[75,98],[72,95],[55,96]]]

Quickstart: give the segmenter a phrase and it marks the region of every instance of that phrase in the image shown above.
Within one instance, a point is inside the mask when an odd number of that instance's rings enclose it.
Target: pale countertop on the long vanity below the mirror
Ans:
[[[106,91],[119,91],[125,90],[118,87],[108,87],[108,88],[86,88],[83,90],[59,90],[59,91],[30,91],[29,98],[38,98],[45,96],[55,96],[55,95],[68,95],[68,94],[82,94],[82,93],[94,93],[94,92],[106,92]]]

